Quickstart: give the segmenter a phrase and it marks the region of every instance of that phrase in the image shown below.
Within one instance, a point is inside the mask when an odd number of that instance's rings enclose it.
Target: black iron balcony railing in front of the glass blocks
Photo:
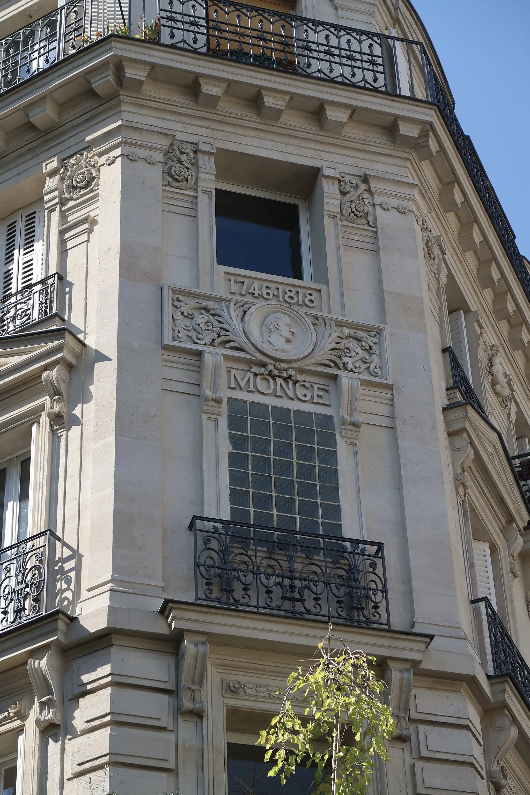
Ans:
[[[195,602],[390,628],[382,544],[194,516]]]

